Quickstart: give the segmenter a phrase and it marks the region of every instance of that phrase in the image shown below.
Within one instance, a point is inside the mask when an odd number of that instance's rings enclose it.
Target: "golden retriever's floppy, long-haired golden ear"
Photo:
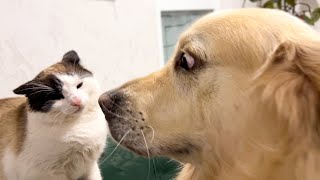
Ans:
[[[258,70],[255,83],[290,134],[320,140],[320,42],[281,43]]]

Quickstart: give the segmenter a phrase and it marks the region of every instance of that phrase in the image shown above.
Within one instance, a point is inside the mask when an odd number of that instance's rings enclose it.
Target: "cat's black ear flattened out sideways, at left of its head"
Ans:
[[[28,97],[32,94],[35,94],[37,91],[43,90],[44,88],[45,85],[42,85],[32,80],[17,87],[13,90],[13,92],[15,94],[26,95]]]

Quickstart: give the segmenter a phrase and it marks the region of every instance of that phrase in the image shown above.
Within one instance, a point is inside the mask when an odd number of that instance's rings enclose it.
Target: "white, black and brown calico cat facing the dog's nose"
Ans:
[[[75,51],[0,99],[1,180],[101,180],[108,125]]]

